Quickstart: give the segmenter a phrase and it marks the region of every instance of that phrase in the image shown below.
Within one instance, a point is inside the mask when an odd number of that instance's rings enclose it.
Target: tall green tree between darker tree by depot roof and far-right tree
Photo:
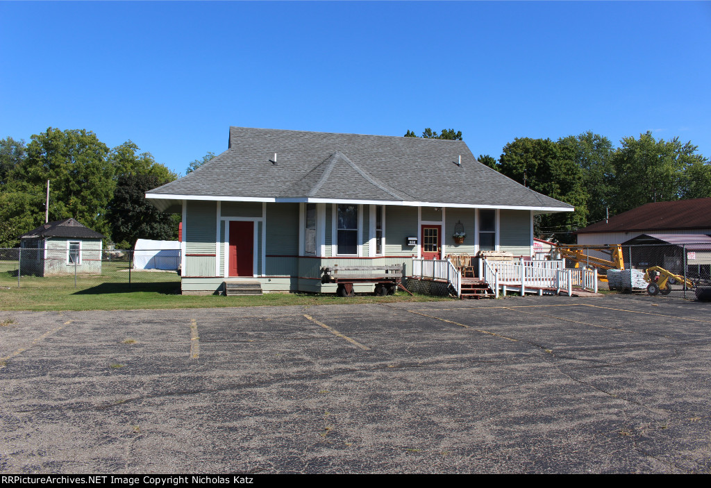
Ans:
[[[582,172],[583,186],[589,194],[587,224],[604,219],[606,208],[615,206],[611,141],[587,131],[558,139],[558,144],[572,153]]]

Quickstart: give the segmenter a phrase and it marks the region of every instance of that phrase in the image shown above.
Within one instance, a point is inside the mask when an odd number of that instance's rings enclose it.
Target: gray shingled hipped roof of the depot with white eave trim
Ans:
[[[147,194],[161,195],[572,210],[479,163],[464,141],[245,127],[230,127],[227,151]]]

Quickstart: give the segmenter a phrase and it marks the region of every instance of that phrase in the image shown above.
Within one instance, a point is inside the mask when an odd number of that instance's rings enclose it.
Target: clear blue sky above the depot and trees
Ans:
[[[711,156],[711,2],[0,1],[0,138],[132,139],[176,172],[234,126],[654,131]]]

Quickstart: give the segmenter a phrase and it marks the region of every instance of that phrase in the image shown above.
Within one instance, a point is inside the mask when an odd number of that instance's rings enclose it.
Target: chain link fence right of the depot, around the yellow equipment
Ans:
[[[651,239],[650,239],[651,240]],[[619,269],[619,257],[613,249],[601,250],[601,246],[577,246],[577,257],[567,257],[566,267],[587,266],[597,268],[602,280],[607,278],[608,269]],[[600,261],[609,261],[609,266]],[[625,286],[618,283],[610,286],[616,291],[640,292],[654,296],[675,296],[697,298],[711,286],[711,243],[680,242],[675,244],[623,244],[621,262],[624,269],[631,270],[626,275]],[[612,278],[612,276],[611,276]],[[609,283],[613,283],[611,279]],[[711,292],[708,292],[711,293]]]

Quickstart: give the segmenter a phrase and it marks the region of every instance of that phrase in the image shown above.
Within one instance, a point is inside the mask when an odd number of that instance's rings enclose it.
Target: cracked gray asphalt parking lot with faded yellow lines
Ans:
[[[711,303],[0,312],[0,471],[711,472]]]

